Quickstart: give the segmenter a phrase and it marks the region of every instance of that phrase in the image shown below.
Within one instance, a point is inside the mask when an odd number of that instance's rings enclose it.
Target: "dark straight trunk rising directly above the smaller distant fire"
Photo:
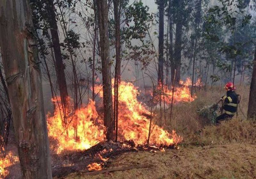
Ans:
[[[164,81],[164,0],[159,0],[158,82]]]

